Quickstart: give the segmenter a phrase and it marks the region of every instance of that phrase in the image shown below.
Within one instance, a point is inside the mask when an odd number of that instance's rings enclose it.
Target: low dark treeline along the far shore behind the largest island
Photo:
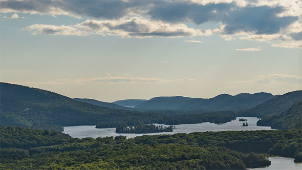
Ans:
[[[233,111],[220,111],[202,114],[165,115],[160,113],[137,114],[136,117],[120,116],[116,119],[105,119],[97,123],[96,128],[116,128],[118,126],[135,126],[137,124],[192,124],[202,122],[226,123],[236,118]]]

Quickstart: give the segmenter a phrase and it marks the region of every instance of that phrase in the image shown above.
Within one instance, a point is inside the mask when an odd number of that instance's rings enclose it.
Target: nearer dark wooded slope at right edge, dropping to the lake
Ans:
[[[302,100],[285,112],[258,120],[257,125],[271,126],[272,129],[301,129]]]

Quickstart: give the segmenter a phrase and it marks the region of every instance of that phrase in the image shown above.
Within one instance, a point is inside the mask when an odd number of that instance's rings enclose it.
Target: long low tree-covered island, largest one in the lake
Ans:
[[[175,129],[175,126],[163,126],[155,124],[137,124],[135,126],[126,125],[119,126],[116,128],[115,133],[124,133],[124,134],[145,134],[145,133],[159,133],[159,132],[172,132]]]

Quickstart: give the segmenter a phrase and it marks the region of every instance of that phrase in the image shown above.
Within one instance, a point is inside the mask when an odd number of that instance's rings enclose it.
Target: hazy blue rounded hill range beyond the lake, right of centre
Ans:
[[[209,111],[240,111],[255,107],[258,104],[273,98],[270,93],[241,93],[235,96],[221,94],[214,98],[189,97],[155,97],[136,105],[136,109],[148,110],[209,110]]]

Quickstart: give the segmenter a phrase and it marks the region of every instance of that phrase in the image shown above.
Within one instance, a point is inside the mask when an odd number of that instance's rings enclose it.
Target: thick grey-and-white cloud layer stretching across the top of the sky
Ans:
[[[76,25],[43,25],[33,34],[183,37],[219,34],[225,40],[275,41],[271,46],[302,48],[301,1],[1,1],[1,12],[68,15],[90,19]],[[15,15],[17,16],[17,15]],[[200,30],[184,23],[220,23]]]

